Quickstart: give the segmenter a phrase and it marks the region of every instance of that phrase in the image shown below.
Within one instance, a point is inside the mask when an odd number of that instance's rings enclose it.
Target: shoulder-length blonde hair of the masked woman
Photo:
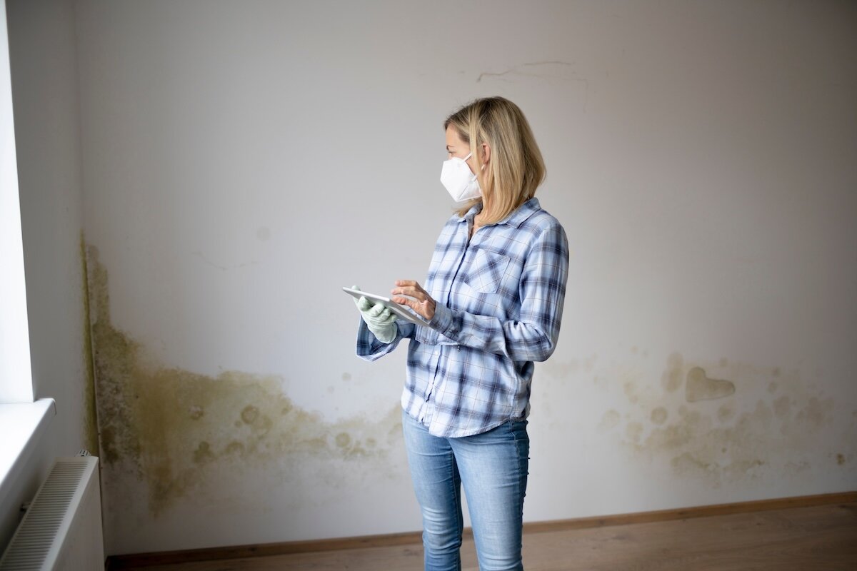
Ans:
[[[518,105],[501,97],[475,99],[446,117],[444,130],[450,125],[476,159],[479,186],[489,197],[485,223],[500,222],[536,194],[546,175],[544,161]],[[482,143],[491,149],[486,170],[482,170]],[[470,200],[458,215],[464,216],[481,201],[481,196]]]

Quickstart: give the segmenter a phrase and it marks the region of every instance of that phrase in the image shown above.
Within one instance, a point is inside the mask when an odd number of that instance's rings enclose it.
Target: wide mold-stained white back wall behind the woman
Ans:
[[[854,490],[855,24],[79,2],[107,552],[418,529],[405,348],[357,360],[338,289],[424,276],[441,122],[493,94],[530,118],[572,247],[525,519]]]

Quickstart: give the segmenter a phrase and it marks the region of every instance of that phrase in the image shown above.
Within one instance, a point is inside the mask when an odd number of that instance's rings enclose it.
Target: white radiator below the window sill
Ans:
[[[0,571],[104,568],[99,459],[57,458],[0,558]]]

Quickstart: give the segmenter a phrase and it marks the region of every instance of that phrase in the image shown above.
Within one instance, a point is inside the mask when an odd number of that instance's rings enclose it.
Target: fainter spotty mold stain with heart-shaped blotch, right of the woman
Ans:
[[[660,390],[623,370],[614,378],[628,403],[596,427],[648,461],[667,460],[676,475],[719,488],[742,479],[842,469],[853,439],[829,439],[834,399],[797,371],[729,363],[687,362],[670,354]],[[683,391],[680,389],[684,389]],[[836,449],[824,451],[827,446]]]

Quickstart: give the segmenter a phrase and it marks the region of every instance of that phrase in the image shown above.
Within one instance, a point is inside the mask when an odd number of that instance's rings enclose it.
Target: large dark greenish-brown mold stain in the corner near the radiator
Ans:
[[[138,342],[111,324],[107,271],[92,246],[87,276],[105,475],[114,484],[144,484],[152,514],[197,493],[224,470],[279,471],[285,484],[294,475],[290,467],[314,462],[323,477],[325,466],[336,470],[346,462],[347,478],[356,463],[383,470],[383,460],[398,446],[398,399],[390,412],[371,420],[328,422],[285,396],[276,376],[210,377],[153,364]]]

